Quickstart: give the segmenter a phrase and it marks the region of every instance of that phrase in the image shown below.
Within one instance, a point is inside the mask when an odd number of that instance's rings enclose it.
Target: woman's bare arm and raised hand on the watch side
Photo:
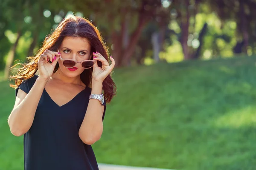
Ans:
[[[93,65],[92,94],[102,94],[102,83],[104,79],[111,73],[114,68],[115,60],[111,59],[109,65],[107,59],[102,54],[93,52],[93,59],[102,62],[102,66],[98,66],[98,62]],[[104,107],[97,99],[90,99],[84,120],[79,129],[79,137],[85,144],[93,144],[98,141],[102,135],[103,122],[102,116]]]

